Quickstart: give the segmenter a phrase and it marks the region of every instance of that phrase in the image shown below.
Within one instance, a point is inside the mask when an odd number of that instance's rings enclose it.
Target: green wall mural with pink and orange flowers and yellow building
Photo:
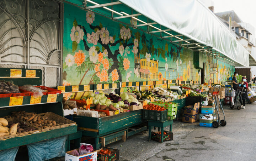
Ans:
[[[137,23],[134,21],[133,23]],[[218,61],[218,74],[205,81],[220,83],[234,67]],[[201,80],[193,51],[110,19],[64,4],[63,85],[125,81]]]

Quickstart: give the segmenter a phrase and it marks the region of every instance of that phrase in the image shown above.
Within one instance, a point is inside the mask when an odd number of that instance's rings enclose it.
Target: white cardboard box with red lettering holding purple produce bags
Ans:
[[[79,151],[79,149],[76,149]],[[73,150],[67,151],[65,155],[65,161],[97,161],[97,153],[100,153],[100,150],[92,151],[80,156],[75,156],[70,154]]]

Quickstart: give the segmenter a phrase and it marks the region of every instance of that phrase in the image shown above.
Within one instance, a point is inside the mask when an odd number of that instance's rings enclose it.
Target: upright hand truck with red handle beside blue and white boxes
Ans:
[[[215,91],[215,88],[217,89],[217,87],[219,87],[219,89],[218,89],[218,91]],[[220,87],[221,87],[220,85],[215,85],[213,88],[213,93],[212,93],[212,95],[213,95],[213,127],[214,128],[218,128],[219,125],[226,126],[224,110],[222,108],[222,104],[220,103],[220,99],[219,99]],[[215,121],[214,121],[214,105],[215,105]],[[223,120],[220,120],[219,105],[223,112],[223,116],[224,116]],[[218,116],[218,119],[217,119],[217,116]]]

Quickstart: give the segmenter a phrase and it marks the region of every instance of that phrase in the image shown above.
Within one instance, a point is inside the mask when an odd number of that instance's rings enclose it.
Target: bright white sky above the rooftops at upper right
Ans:
[[[256,29],[256,0],[212,0],[214,12],[234,10],[243,22],[250,23]],[[256,32],[255,32],[256,33]]]

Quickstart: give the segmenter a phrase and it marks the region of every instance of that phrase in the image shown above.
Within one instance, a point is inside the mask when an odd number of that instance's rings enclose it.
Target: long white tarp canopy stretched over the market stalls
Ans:
[[[198,0],[119,0],[158,24],[249,67],[249,52]]]

